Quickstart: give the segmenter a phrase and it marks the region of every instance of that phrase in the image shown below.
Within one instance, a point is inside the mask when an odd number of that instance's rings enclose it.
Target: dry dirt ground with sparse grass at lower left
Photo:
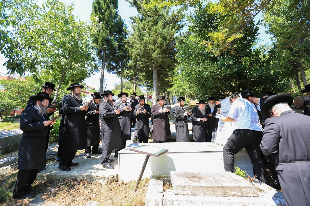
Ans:
[[[12,192],[17,178],[17,164],[12,172],[0,177],[0,205],[26,206],[29,199],[14,200]],[[61,206],[85,206],[88,201],[99,202],[98,206],[144,206],[144,198],[149,179],[141,180],[138,190],[134,192],[135,181],[118,183],[117,176],[108,179],[102,185],[86,179],[58,179],[46,182],[35,181],[34,188],[40,189],[42,200],[51,201]],[[36,197],[37,197],[36,196]]]

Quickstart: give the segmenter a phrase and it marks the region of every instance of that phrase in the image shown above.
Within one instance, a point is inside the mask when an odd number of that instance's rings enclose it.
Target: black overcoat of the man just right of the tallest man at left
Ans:
[[[87,145],[98,145],[100,142],[99,113],[95,113],[99,104],[90,103],[86,112]]]

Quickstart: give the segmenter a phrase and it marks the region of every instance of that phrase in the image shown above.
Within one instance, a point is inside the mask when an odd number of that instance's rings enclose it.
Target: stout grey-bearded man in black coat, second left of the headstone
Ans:
[[[198,106],[194,108],[191,114],[193,121],[193,139],[197,142],[204,142],[208,138],[208,126],[207,126],[207,110],[205,100],[199,100]]]

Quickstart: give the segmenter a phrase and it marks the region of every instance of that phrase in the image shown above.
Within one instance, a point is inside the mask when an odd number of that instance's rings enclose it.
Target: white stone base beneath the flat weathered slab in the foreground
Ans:
[[[223,197],[175,195],[174,190],[166,190],[163,206],[286,206],[280,191],[254,180],[259,189],[259,197]]]

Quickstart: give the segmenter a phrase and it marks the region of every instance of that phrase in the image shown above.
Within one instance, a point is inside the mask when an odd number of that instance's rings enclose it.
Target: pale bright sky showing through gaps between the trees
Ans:
[[[73,15],[78,16],[78,18],[81,19],[82,21],[90,23],[92,0],[76,0],[76,1],[62,0],[62,2],[66,4],[74,2],[75,9],[73,11]],[[125,0],[118,1],[118,10],[119,10],[118,14],[122,17],[122,19],[125,20],[126,25],[130,27],[131,22],[130,22],[129,17],[137,15],[137,10],[134,7],[131,7],[130,4],[126,2]],[[257,15],[256,19],[257,21],[258,19],[261,19],[261,15]],[[270,42],[269,38],[271,36],[266,35],[264,27],[262,26],[260,27],[259,33],[260,33],[259,38],[262,39],[260,44],[265,44],[265,43]],[[2,55],[0,55],[0,72],[2,72],[2,75],[7,73],[6,67],[2,66],[5,63],[5,61],[6,61],[5,58]],[[85,80],[88,86],[95,87],[95,89],[98,91],[99,91],[100,73],[101,72],[98,72],[95,75],[92,75],[89,78],[86,78]],[[104,79],[105,79],[104,84],[107,84],[106,90],[113,90],[115,87],[115,84],[118,84],[121,82],[120,78],[118,78],[117,75],[109,74],[106,71],[104,72]]]

